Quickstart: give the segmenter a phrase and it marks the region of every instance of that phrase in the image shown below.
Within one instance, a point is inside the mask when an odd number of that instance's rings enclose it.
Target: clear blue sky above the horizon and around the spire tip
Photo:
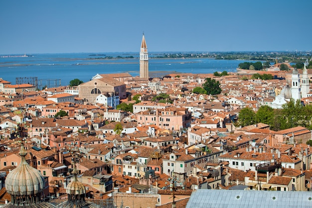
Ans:
[[[312,0],[1,0],[0,54],[311,50]]]

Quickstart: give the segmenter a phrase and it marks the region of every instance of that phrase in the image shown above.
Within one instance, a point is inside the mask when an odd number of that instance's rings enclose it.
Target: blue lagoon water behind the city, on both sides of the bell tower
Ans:
[[[37,77],[41,84],[53,85],[57,80],[68,85],[75,78],[87,82],[96,74],[129,72],[139,76],[138,53],[101,53],[106,56],[134,56],[132,59],[95,59],[95,53],[32,54],[28,57],[0,57],[0,77],[15,84],[18,77]],[[1,56],[1,55],[0,55]],[[153,57],[153,55],[150,55]],[[90,59],[93,58],[93,59]],[[149,59],[150,77],[169,73],[235,72],[242,60],[216,60],[211,58]],[[49,86],[48,85],[48,86]]]

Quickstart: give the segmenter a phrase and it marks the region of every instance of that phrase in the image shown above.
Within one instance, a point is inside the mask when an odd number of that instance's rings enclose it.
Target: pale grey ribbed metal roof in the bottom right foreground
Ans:
[[[186,208],[310,208],[311,192],[197,190]]]

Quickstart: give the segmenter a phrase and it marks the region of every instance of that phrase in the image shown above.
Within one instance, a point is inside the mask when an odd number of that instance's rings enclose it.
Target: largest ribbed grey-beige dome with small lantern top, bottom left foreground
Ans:
[[[5,189],[11,196],[30,196],[44,190],[44,179],[41,173],[32,168],[25,160],[27,152],[23,145],[19,151],[20,165],[12,170],[5,179]]]

